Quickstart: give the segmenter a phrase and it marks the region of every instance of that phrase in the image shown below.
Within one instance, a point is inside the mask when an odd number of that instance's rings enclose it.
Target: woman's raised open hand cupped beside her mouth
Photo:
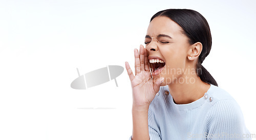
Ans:
[[[149,106],[159,91],[160,84],[164,80],[159,78],[153,80],[148,64],[147,50],[140,45],[140,54],[134,49],[135,57],[135,76],[128,62],[125,67],[132,84],[133,90],[133,106],[143,107]]]

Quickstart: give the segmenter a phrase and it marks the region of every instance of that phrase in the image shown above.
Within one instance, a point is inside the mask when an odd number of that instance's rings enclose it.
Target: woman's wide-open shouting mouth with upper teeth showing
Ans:
[[[151,72],[159,74],[162,72],[165,62],[161,59],[150,59]],[[159,72],[159,73],[158,73]]]

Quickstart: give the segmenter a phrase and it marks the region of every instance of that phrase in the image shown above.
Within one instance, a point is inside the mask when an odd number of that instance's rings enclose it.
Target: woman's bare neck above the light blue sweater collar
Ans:
[[[168,84],[170,95],[172,95],[176,104],[188,104],[202,98],[210,88],[210,85],[201,81],[200,77],[197,75],[184,75],[182,76],[188,78],[193,78],[193,82],[183,82],[179,83],[179,79]],[[194,82],[195,81],[195,82]]]

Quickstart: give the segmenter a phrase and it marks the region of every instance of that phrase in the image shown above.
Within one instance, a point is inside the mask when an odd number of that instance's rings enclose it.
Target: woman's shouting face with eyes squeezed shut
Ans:
[[[155,17],[148,26],[145,44],[153,78],[164,77],[161,86],[181,82],[178,80],[187,73],[190,48],[182,28],[168,17]],[[155,62],[157,57],[165,63]]]

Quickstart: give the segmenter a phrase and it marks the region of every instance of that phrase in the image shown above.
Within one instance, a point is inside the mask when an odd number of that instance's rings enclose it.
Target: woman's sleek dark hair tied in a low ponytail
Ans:
[[[196,42],[202,43],[203,50],[199,55],[196,65],[197,75],[203,82],[218,86],[215,79],[202,66],[205,57],[210,53],[211,49],[210,28],[206,19],[197,11],[189,9],[167,9],[159,11],[150,21],[157,16],[165,16],[176,22],[183,29],[183,34],[188,37],[190,44]]]

